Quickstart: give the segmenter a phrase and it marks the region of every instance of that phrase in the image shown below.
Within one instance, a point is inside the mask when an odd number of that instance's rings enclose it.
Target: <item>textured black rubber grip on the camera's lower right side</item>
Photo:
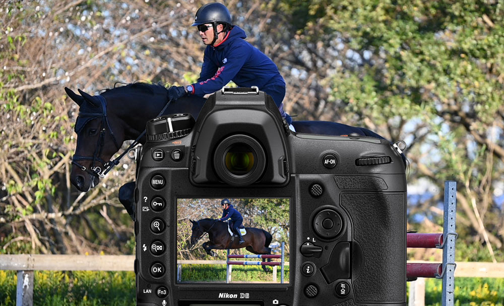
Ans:
[[[353,275],[357,303],[403,302],[406,290],[405,194],[343,193],[341,205],[363,252]],[[402,288],[398,290],[398,288]]]

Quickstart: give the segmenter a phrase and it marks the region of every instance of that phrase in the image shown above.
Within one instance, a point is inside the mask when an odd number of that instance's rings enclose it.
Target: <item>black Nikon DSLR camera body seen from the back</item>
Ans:
[[[223,88],[197,121],[154,118],[147,137],[136,158],[138,306],[406,305],[405,166],[388,141],[293,133],[257,88]],[[190,220],[177,209],[223,198],[287,199],[284,283],[181,279],[176,240]]]

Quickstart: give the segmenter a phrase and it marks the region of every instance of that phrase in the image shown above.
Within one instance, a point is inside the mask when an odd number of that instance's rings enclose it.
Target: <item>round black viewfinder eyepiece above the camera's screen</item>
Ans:
[[[266,155],[257,140],[246,135],[233,135],[216,148],[214,167],[217,175],[232,186],[246,186],[264,172]]]

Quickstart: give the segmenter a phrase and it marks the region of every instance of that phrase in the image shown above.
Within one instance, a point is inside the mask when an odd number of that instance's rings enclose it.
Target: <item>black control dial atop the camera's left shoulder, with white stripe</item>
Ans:
[[[147,141],[158,142],[184,137],[191,133],[195,120],[190,113],[176,113],[147,121]]]

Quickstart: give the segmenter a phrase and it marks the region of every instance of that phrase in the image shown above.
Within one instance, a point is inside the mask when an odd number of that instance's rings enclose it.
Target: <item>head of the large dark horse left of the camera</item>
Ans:
[[[68,96],[79,105],[74,131],[77,146],[72,158],[70,181],[80,191],[95,187],[109,167],[110,158],[124,141],[122,121],[107,114],[107,101],[101,95],[92,96],[78,89],[81,95],[65,87]]]

